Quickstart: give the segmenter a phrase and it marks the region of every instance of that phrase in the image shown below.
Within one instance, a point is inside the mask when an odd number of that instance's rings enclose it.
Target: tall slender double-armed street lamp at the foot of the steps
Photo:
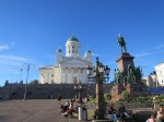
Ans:
[[[25,91],[24,91],[24,98],[23,98],[23,100],[26,99],[26,85],[27,85],[27,80],[28,80],[30,66],[33,65],[33,66],[34,66],[34,70],[35,70],[35,64],[30,63],[30,60],[28,60],[28,63],[24,63],[24,64],[22,65],[21,70],[24,69],[24,65],[27,65],[27,75],[26,75]]]

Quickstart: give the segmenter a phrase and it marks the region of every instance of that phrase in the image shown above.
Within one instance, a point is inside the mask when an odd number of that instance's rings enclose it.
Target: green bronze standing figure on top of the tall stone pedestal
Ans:
[[[125,52],[127,52],[125,39],[124,39],[124,37],[121,37],[120,34],[118,35],[117,44],[118,44],[118,46],[120,46],[120,52],[121,53],[122,53],[122,48],[125,49]]]

